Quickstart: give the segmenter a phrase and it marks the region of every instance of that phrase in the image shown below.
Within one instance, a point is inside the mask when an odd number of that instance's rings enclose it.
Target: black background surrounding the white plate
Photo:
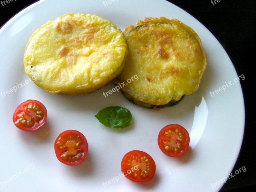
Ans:
[[[36,1],[17,0],[5,6],[0,4],[0,26],[33,2]],[[255,65],[253,56],[255,56],[256,1],[221,0],[219,3],[216,2],[216,5],[213,5],[211,0],[169,0],[169,2],[184,9],[208,28],[228,53],[237,75],[245,76],[245,79],[240,81],[245,102],[244,139],[232,173],[243,166],[246,172],[229,179],[220,191],[231,192],[243,189],[251,191],[252,188],[256,188],[255,112],[252,110],[255,99],[250,98],[255,87],[252,66]]]

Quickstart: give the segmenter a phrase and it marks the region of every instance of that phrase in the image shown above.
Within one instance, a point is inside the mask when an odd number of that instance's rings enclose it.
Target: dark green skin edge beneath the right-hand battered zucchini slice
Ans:
[[[163,105],[152,105],[152,104],[145,103],[145,102],[142,102],[142,101],[134,100],[134,99],[132,99],[131,97],[129,97],[127,94],[125,94],[124,91],[121,90],[121,92],[122,92],[122,94],[124,95],[124,97],[125,97],[128,101],[132,102],[133,104],[139,105],[139,106],[145,107],[145,108],[150,108],[150,109],[161,109],[161,108],[164,108],[164,107],[172,107],[172,106],[174,106],[174,105],[177,105],[177,104],[185,97],[185,95],[182,95],[181,98],[180,98],[180,100],[173,100],[173,99],[172,99],[172,100],[170,100],[168,103],[163,104]]]

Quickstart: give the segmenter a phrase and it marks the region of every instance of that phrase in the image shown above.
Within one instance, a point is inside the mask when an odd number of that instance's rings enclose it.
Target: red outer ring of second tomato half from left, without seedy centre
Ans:
[[[84,146],[84,155],[81,157],[81,159],[79,161],[76,162],[69,162],[69,161],[65,161],[61,158],[61,154],[63,151],[61,151],[57,145],[58,141],[60,140],[61,137],[65,137],[68,134],[75,134],[78,135],[82,138],[83,140],[83,146]],[[57,159],[66,165],[70,165],[70,166],[74,166],[74,165],[78,165],[80,163],[82,163],[84,161],[84,159],[86,158],[87,154],[88,154],[88,142],[86,140],[86,138],[84,137],[83,133],[76,131],[76,130],[66,130],[62,133],[60,133],[60,135],[56,138],[55,142],[54,142],[54,150],[55,150],[55,154]]]

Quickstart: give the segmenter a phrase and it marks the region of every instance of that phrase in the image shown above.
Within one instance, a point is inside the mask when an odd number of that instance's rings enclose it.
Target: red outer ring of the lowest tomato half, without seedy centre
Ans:
[[[148,162],[150,163],[150,173],[149,173],[148,177],[145,177],[145,178],[141,177],[140,172],[138,173],[137,177],[132,176],[131,173],[137,172],[136,170],[138,169],[138,167],[137,167],[137,169],[135,169],[135,167],[127,165],[128,160],[132,156],[137,156],[137,157],[146,156],[146,158],[148,159]],[[124,157],[121,161],[121,171],[127,179],[129,179],[133,182],[145,183],[154,177],[154,175],[156,173],[156,163],[155,163],[154,159],[148,153],[146,153],[144,151],[140,151],[140,150],[133,150],[124,155]]]

